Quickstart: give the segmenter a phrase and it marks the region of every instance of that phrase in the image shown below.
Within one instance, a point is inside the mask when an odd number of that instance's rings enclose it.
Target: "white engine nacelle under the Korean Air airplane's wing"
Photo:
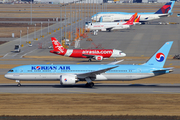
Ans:
[[[73,85],[78,81],[76,75],[61,75],[60,84],[61,85]]]

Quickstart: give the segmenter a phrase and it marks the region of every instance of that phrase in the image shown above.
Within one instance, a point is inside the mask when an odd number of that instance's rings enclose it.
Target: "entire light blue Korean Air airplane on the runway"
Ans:
[[[118,65],[121,61],[106,65],[23,65],[12,68],[5,78],[20,81],[60,81],[61,85],[74,85],[78,81],[87,81],[93,87],[93,81],[121,80],[130,81],[154,77],[172,72],[172,68],[163,68],[173,41],[166,42],[146,63],[142,65]]]

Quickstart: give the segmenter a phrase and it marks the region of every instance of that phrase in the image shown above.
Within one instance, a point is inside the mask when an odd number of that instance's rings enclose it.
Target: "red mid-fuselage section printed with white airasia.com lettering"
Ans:
[[[112,54],[113,54],[113,50],[112,49],[74,49],[72,54],[69,57],[79,57],[79,58],[87,58],[87,56],[83,56],[83,54],[85,55],[99,55],[102,56],[103,58],[109,58]]]

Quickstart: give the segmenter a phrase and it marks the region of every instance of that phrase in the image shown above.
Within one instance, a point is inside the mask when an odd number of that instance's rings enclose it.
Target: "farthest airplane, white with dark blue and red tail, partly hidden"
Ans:
[[[162,6],[156,12],[138,13],[138,15],[141,15],[140,22],[145,23],[150,20],[155,20],[155,19],[168,17],[172,15],[173,14],[172,9],[173,9],[174,3],[175,1],[167,2],[164,6]],[[127,12],[99,12],[97,14],[94,14],[91,17],[91,19],[94,21],[99,21],[99,19],[103,17],[103,22],[129,20],[133,14],[134,13],[127,13]]]

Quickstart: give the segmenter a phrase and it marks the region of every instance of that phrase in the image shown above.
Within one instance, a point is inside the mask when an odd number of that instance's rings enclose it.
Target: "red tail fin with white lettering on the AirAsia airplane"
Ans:
[[[60,53],[66,52],[66,49],[58,42],[55,37],[51,37],[54,51],[59,51]]]

